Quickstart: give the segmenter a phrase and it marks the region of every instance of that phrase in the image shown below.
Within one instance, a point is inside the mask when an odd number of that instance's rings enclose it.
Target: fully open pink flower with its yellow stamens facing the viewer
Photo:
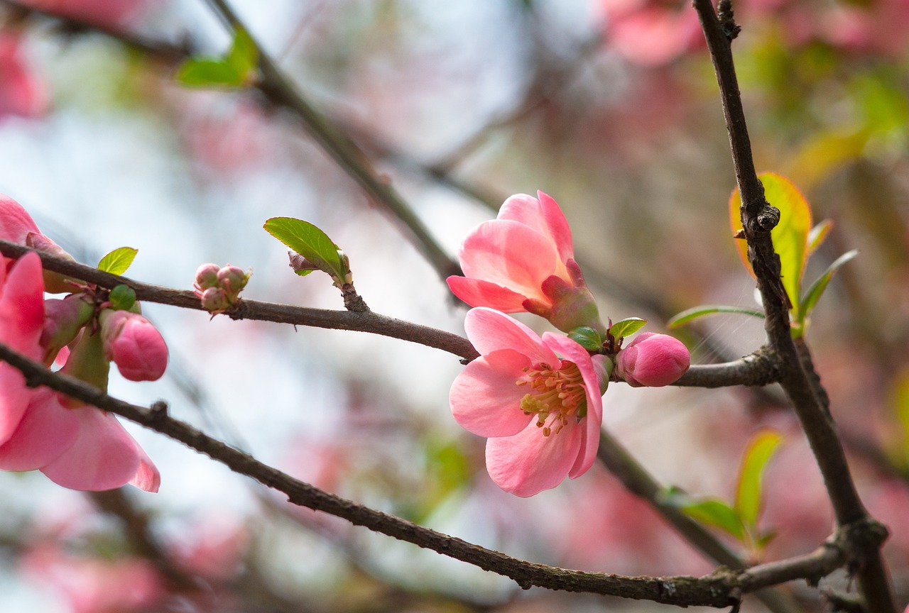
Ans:
[[[489,438],[489,476],[527,497],[584,474],[600,440],[602,363],[567,337],[540,339],[492,309],[469,311],[464,328],[481,356],[454,380],[449,400],[454,420]]]

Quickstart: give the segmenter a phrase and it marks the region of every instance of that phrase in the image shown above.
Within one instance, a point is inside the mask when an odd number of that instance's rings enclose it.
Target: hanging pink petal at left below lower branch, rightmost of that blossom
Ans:
[[[75,443],[41,469],[70,489],[114,489],[133,480],[140,468],[139,445],[110,413],[93,407],[72,409],[79,418]]]

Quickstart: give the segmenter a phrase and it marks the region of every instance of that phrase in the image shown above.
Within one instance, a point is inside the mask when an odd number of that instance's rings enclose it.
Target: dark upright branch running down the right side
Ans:
[[[771,348],[780,361],[781,380],[786,395],[805,432],[814,458],[824,475],[834,514],[841,526],[864,522],[868,516],[855,490],[843,445],[836,434],[833,418],[824,406],[826,394],[814,369],[804,369],[789,329],[789,300],[780,280],[780,259],[774,252],[771,231],[780,212],[767,203],[764,186],[754,170],[751,142],[744,120],[742,97],[735,76],[732,45],[714,13],[709,0],[694,0],[701,20],[707,48],[714,63],[716,81],[723,103],[726,129],[732,149],[735,178],[742,196],[742,224],[748,242],[748,258],[764,299],[764,327]],[[726,28],[728,30],[728,26]],[[810,362],[810,359],[809,359]],[[882,527],[883,528],[883,527]],[[896,611],[880,557],[879,543],[868,542],[865,555],[857,560],[859,585],[871,613]]]

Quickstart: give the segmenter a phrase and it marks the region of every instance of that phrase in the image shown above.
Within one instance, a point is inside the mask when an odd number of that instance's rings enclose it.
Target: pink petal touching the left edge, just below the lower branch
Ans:
[[[75,411],[61,406],[55,391],[40,388],[18,428],[0,445],[0,470],[40,469],[72,447],[78,435]]]

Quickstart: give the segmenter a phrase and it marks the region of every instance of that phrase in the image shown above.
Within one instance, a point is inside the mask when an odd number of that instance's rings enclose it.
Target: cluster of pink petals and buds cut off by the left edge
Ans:
[[[66,255],[13,199],[0,195],[0,238]],[[67,256],[68,257],[68,256]],[[131,381],[164,374],[167,347],[139,314],[135,294],[107,292],[42,269],[35,252],[0,264],[0,342],[106,391],[110,362]],[[45,300],[45,292],[67,292]],[[132,294],[132,296],[130,296]],[[160,476],[114,415],[45,387],[26,386],[0,363],[0,470],[41,470],[71,489],[131,483],[157,491]]]

